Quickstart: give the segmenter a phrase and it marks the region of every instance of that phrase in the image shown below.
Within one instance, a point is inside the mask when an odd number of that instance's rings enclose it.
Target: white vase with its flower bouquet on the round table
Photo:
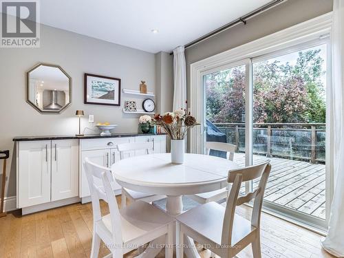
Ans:
[[[171,161],[174,164],[184,163],[185,138],[195,125],[200,125],[196,119],[187,114],[185,109],[177,109],[160,116],[155,114],[153,123],[160,125],[171,137]]]

